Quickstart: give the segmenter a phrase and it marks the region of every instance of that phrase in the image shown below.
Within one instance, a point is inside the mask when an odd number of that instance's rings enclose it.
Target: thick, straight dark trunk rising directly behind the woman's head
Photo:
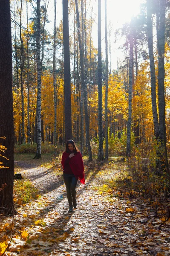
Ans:
[[[63,0],[63,55],[64,55],[64,118],[65,141],[72,139],[70,52],[69,52],[69,9],[68,0]]]

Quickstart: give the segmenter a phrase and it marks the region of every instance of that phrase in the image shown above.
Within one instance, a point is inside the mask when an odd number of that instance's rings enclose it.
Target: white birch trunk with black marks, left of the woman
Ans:
[[[37,152],[41,157],[41,61],[40,61],[40,0],[37,0]]]

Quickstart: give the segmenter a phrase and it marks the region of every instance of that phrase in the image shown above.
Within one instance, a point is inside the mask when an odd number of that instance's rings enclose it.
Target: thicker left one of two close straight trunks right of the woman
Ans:
[[[98,0],[98,160],[104,160],[102,124],[101,0]]]

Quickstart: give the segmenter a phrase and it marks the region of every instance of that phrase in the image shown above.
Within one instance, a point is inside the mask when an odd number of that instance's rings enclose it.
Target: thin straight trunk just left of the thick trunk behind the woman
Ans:
[[[57,0],[54,0],[54,49],[53,49],[53,87],[54,87],[54,145],[57,145],[57,93],[56,93],[56,4]]]

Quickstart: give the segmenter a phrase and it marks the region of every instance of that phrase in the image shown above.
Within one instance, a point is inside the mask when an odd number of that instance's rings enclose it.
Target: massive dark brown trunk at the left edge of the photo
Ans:
[[[0,139],[6,151],[0,158],[0,214],[12,215],[14,184],[14,120],[12,102],[12,41],[10,1],[0,1]],[[5,167],[3,167],[5,166]]]

